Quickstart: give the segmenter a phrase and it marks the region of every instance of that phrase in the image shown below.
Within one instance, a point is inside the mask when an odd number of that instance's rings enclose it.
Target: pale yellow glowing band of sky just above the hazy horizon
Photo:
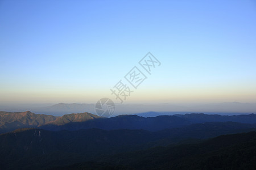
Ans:
[[[63,90],[58,89],[25,89],[0,91],[0,102],[25,102],[25,103],[95,103],[102,97],[109,97],[115,100],[111,95],[110,88],[98,90],[96,88]],[[128,96],[124,103],[204,103],[204,102],[256,102],[256,90],[254,87],[171,87],[151,90],[142,88],[134,90],[131,96]]]

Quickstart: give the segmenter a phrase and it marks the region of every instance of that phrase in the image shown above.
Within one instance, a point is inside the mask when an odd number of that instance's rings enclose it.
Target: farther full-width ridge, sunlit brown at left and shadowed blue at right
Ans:
[[[79,130],[79,129],[143,129],[157,131],[180,128],[204,122],[239,122],[256,124],[256,114],[221,116],[218,114],[175,114],[173,116],[141,117],[137,115],[120,115],[100,117],[91,113],[72,113],[61,117],[47,114],[26,112],[0,112],[0,133],[18,128],[41,128],[46,130]]]

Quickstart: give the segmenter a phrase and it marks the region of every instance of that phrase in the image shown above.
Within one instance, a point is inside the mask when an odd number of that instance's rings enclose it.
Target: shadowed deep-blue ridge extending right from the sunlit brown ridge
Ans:
[[[221,116],[218,114],[176,114],[174,116],[140,117],[137,115],[121,115],[110,118],[97,118],[85,122],[71,122],[63,126],[42,125],[40,128],[46,130],[79,130],[98,128],[104,130],[113,129],[144,129],[157,131],[170,128],[179,128],[203,122],[241,122],[246,124],[256,124],[256,114],[239,116]]]

